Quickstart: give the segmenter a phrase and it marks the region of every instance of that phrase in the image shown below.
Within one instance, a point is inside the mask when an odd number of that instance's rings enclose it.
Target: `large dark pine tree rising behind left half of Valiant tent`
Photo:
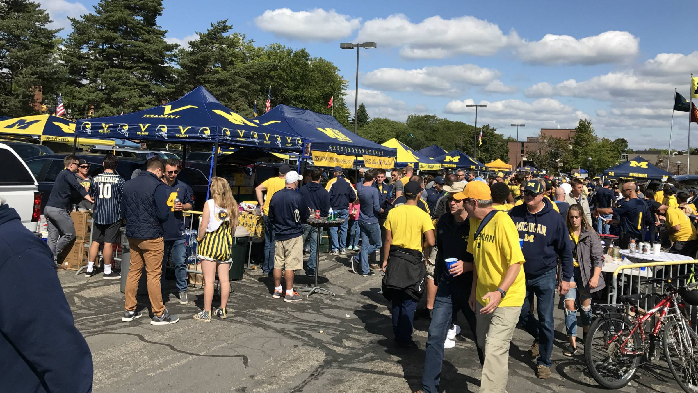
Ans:
[[[95,13],[70,18],[62,59],[70,88],[64,100],[77,116],[118,115],[174,98],[173,52],[157,24],[161,0],[101,0]]]

